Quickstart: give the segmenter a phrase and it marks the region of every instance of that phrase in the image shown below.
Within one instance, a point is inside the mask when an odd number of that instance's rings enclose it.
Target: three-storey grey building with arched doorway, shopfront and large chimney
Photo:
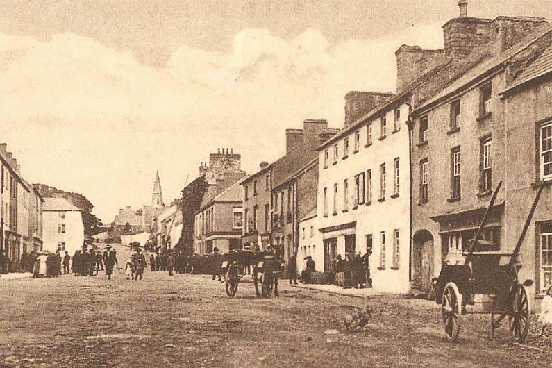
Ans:
[[[471,18],[460,3],[460,17],[443,26],[446,67],[412,92],[412,281],[426,292],[444,262],[462,262],[496,184],[512,170],[498,92],[552,40],[544,19]],[[442,83],[456,72],[458,78]],[[535,141],[534,134],[519,138]],[[483,232],[493,250],[510,246],[507,191],[504,185]]]

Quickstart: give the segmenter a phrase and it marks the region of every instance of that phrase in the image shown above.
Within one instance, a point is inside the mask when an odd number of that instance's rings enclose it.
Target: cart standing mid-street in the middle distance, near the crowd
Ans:
[[[240,280],[251,270],[256,296],[278,296],[278,278],[283,272],[274,253],[262,251],[231,251],[223,256],[222,271],[226,274],[226,295],[235,296]]]

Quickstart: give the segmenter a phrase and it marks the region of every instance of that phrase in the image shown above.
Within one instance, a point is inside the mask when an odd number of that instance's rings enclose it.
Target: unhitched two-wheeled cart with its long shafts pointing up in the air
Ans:
[[[519,250],[524,241],[533,213],[537,207],[543,186],[537,192],[523,230],[512,252],[481,251],[483,242],[479,241],[485,228],[489,212],[501,187],[496,187],[489,207],[483,215],[478,231],[464,256],[463,265],[444,265],[435,285],[435,302],[441,304],[442,323],[446,337],[451,342],[458,340],[461,316],[470,314],[490,314],[491,331],[499,328],[503,319],[508,317],[510,333],[516,342],[523,343],[527,337],[530,322],[530,300],[526,287],[533,285],[532,280],[522,283],[518,278],[521,269]],[[473,306],[474,296],[487,296],[490,311],[467,310]],[[497,318],[495,318],[498,316]]]

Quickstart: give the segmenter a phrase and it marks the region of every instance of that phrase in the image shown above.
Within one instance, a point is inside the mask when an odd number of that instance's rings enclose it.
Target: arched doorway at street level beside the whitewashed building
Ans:
[[[412,237],[413,287],[428,294],[433,286],[433,235],[419,230]]]

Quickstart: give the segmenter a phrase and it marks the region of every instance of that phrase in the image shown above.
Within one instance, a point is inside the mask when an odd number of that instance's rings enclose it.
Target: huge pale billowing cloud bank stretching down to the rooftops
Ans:
[[[0,35],[3,140],[29,180],[83,192],[110,221],[149,201],[156,169],[168,202],[217,147],[252,172],[283,153],[285,128],[342,126],[346,92],[394,90],[400,44],[435,48],[441,37],[438,25],[340,44],[315,29],[291,40],[244,29],[228,53],[182,45],[149,67],[72,33]]]

